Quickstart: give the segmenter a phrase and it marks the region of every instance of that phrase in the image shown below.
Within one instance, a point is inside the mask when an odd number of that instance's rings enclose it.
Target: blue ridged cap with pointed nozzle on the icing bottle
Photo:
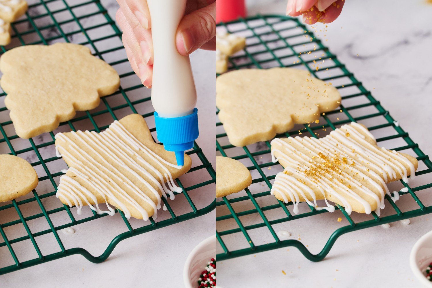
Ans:
[[[174,151],[177,165],[184,165],[184,151],[194,147],[198,138],[198,109],[186,116],[160,117],[155,112],[156,135],[166,151]]]

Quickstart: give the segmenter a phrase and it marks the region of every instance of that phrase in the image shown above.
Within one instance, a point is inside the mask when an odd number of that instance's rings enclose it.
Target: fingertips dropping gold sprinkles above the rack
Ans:
[[[345,0],[288,0],[286,15],[303,15],[303,22],[330,23],[336,20],[342,11]]]

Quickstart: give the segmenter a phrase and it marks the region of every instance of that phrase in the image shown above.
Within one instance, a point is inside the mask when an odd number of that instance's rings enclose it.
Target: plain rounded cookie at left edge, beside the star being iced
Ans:
[[[38,174],[29,162],[14,155],[0,155],[0,202],[24,196],[38,183]]]

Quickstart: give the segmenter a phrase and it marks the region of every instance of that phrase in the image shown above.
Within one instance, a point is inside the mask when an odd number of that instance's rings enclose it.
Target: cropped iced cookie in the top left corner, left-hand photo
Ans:
[[[24,0],[0,0],[0,45],[10,43],[10,22],[21,17],[27,8]]]

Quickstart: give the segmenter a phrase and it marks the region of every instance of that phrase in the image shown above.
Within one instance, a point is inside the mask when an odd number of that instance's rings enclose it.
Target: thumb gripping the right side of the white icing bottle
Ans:
[[[181,19],[175,36],[178,53],[189,55],[216,35],[216,2],[187,14]]]

